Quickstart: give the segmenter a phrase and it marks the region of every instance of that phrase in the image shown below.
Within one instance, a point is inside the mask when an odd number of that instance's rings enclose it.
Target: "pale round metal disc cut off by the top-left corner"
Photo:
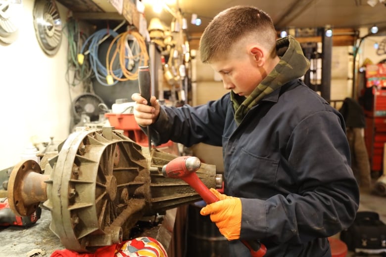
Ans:
[[[17,38],[18,5],[10,0],[0,0],[0,40],[4,43],[13,43]]]

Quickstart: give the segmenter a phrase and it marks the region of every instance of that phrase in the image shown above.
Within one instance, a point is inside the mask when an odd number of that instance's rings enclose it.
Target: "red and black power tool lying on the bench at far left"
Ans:
[[[42,209],[37,208],[31,215],[18,216],[9,208],[8,198],[0,198],[0,226],[30,226],[36,223],[40,218]]]

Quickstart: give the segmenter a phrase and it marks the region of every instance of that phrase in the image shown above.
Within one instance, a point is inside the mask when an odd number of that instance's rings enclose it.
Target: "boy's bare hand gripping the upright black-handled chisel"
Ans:
[[[132,94],[131,99],[136,102],[133,114],[138,125],[145,127],[158,119],[160,106],[155,96],[150,97],[151,106],[139,93]]]

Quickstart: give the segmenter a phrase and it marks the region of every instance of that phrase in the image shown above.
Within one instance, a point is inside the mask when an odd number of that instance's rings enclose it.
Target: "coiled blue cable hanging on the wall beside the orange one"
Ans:
[[[94,75],[95,75],[97,81],[103,86],[113,86],[113,85],[117,84],[118,81],[115,81],[112,83],[109,83],[107,81],[107,79],[106,79],[106,77],[108,75],[107,69],[106,69],[106,67],[104,67],[102,65],[102,63],[100,62],[100,60],[98,58],[99,42],[106,35],[112,36],[115,40],[115,38],[118,36],[118,33],[115,32],[114,30],[111,30],[111,29],[101,29],[101,30],[96,31],[83,44],[82,49],[81,49],[81,53],[83,53],[86,46],[89,45],[89,52],[90,52],[89,53],[89,59],[90,59],[90,63],[91,63],[91,68],[94,71]],[[114,42],[114,40],[113,40],[113,42]],[[109,54],[106,55],[106,59],[108,59],[108,56],[109,56]],[[82,57],[80,57],[78,55],[78,62],[83,63],[83,61],[84,61],[83,54],[82,54]],[[120,68],[113,70],[112,74],[114,76],[116,76],[117,78],[121,78],[123,76],[123,72]]]

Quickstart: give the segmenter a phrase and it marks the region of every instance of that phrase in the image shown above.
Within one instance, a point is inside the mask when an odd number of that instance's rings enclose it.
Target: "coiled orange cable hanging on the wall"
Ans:
[[[131,46],[130,46],[130,43]],[[137,80],[139,66],[147,66],[149,56],[147,54],[146,43],[143,36],[133,30],[129,30],[119,34],[110,43],[107,56],[110,56],[110,51],[116,45],[112,58],[109,61],[106,59],[107,76],[111,76],[110,80],[115,79],[117,81]],[[119,57],[119,64],[124,77],[118,77],[111,70],[115,58]],[[135,65],[138,63],[138,65]],[[137,66],[137,68],[135,68]],[[133,71],[134,69],[134,71]]]

